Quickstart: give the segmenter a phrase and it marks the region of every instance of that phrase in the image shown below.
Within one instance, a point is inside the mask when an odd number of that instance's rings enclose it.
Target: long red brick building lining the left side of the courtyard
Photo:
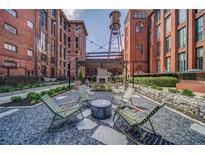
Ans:
[[[13,66],[10,75],[14,76],[67,77],[73,23],[62,10],[0,10],[0,75],[8,73],[5,67]],[[83,22],[79,25],[78,40],[84,44],[79,43],[75,58],[86,53],[87,31]],[[77,39],[71,40],[78,44]]]

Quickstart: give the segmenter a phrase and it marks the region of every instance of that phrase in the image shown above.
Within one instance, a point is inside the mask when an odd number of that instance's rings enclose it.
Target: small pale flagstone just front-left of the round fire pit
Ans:
[[[81,122],[79,122],[77,124],[78,130],[92,129],[96,126],[97,126],[97,124],[95,122],[93,122],[92,120],[87,119],[87,118],[83,119]]]

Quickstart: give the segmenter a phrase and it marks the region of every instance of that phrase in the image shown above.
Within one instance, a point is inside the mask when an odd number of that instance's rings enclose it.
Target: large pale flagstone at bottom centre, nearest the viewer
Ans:
[[[108,145],[125,145],[128,143],[125,135],[105,126],[99,126],[92,138]]]

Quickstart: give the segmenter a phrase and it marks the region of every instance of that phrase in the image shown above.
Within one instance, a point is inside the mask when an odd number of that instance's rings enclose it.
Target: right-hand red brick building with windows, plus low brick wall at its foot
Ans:
[[[128,74],[133,74],[132,61],[135,74],[139,69],[155,74],[198,71],[202,73],[182,75],[180,79],[189,81],[180,82],[177,88],[205,92],[204,17],[203,9],[129,10],[124,30]]]

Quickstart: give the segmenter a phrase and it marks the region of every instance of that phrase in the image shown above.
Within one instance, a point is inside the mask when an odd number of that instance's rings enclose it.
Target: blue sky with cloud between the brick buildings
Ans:
[[[109,42],[109,14],[112,11],[113,10],[110,9],[64,10],[69,19],[84,20],[88,31],[87,52],[96,51],[96,49],[97,51],[108,50],[108,45],[101,50],[99,50],[99,46]],[[128,10],[124,9],[119,11],[121,12],[121,34],[123,34],[123,22]],[[90,43],[89,40],[93,41],[94,43]],[[99,46],[95,44],[98,44]]]

